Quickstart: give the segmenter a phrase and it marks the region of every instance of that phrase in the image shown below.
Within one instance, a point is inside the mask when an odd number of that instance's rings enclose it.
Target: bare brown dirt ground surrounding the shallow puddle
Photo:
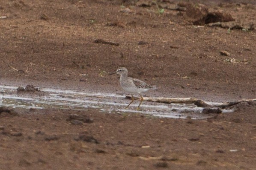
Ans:
[[[208,8],[240,25],[256,24],[255,4],[232,2]],[[154,96],[256,98],[255,29],[228,34],[193,26],[182,11],[157,11],[131,0],[1,0],[0,16],[7,18],[0,19],[0,84],[122,92],[117,76],[107,73],[125,66],[130,76],[159,86]],[[93,109],[3,111],[0,170],[256,170],[256,104],[235,108],[211,120]],[[72,124],[70,114],[93,122]]]

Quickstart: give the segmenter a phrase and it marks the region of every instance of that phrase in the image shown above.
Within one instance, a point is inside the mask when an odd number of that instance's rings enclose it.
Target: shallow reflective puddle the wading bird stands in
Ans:
[[[1,106],[74,110],[94,108],[107,113],[143,113],[166,118],[186,118],[190,116],[193,119],[202,119],[208,117],[208,115],[202,113],[202,107],[197,107],[194,104],[161,104],[143,101],[140,106],[141,110],[137,111],[139,101],[134,101],[128,109],[124,109],[130,102],[130,100],[124,99],[125,95],[49,88],[39,88],[45,92],[43,96],[30,95],[30,93],[20,95],[17,94],[17,88],[15,86],[0,86]],[[222,111],[232,112],[232,110],[225,109]]]

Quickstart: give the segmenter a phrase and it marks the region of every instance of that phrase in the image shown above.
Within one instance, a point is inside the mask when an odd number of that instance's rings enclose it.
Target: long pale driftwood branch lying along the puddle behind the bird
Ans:
[[[126,96],[125,98],[131,99],[131,96]],[[140,100],[139,97],[134,97],[134,100]],[[256,101],[255,99],[243,99],[239,101],[230,101],[230,102],[225,102],[222,104],[208,104],[207,102],[198,99],[198,98],[164,98],[164,97],[158,97],[158,98],[150,98],[150,97],[143,97],[143,101],[153,101],[153,102],[158,102],[158,103],[166,103],[166,104],[171,104],[171,103],[180,103],[180,104],[195,104],[198,107],[220,107],[220,108],[225,108],[225,107],[230,107],[236,104],[239,104],[241,102],[253,102]]]

